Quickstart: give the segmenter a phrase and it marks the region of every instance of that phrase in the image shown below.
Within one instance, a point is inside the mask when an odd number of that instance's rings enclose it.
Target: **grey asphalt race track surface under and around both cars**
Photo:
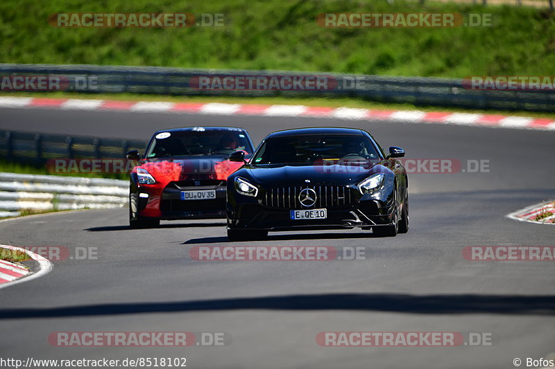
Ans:
[[[360,127],[407,159],[487,160],[489,172],[409,174],[409,233],[270,233],[265,246],[364,246],[366,260],[205,262],[194,246],[239,245],[223,219],[130,230],[126,209],[0,222],[0,243],[97,248],[0,291],[0,348],[26,359],[186,357],[187,368],[514,368],[555,351],[552,262],[473,262],[464,246],[553,246],[555,226],[505,217],[555,197],[555,132],[388,121],[0,109],[2,129],[148,138],[189,125]],[[92,258],[90,258],[92,259]],[[51,332],[227,332],[230,345],[58,348]],[[490,332],[493,345],[327,348],[318,332]],[[522,364],[525,367],[525,363]]]

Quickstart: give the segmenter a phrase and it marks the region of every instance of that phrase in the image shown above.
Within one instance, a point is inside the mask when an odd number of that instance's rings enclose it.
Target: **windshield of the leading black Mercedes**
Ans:
[[[305,135],[268,138],[251,163],[314,164],[318,161],[368,161],[379,155],[372,141],[358,135]]]

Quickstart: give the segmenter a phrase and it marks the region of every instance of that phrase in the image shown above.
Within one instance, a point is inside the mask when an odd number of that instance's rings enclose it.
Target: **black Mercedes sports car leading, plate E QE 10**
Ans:
[[[264,138],[247,163],[228,177],[228,238],[266,237],[268,231],[372,229],[395,236],[409,228],[407,173],[361,129],[301,128]]]

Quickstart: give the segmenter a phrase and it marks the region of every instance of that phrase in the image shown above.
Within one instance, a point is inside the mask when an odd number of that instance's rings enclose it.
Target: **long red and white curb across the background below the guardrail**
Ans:
[[[443,123],[473,127],[555,130],[551,118],[452,113],[447,111],[378,110],[304,105],[223,104],[221,102],[164,102],[0,97],[0,107],[65,110],[194,113],[207,115],[300,116],[344,120],[398,120],[404,123]]]

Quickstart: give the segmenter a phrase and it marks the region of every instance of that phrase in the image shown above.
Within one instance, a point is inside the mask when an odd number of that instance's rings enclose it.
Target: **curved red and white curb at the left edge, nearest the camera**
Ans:
[[[19,267],[19,265],[17,264],[0,260],[0,289],[12,285],[17,285],[18,283],[22,282],[28,282],[29,280],[33,280],[35,278],[40,278],[46,273],[49,273],[53,268],[52,263],[48,259],[43,258],[41,255],[38,255],[31,251],[3,244],[0,244],[0,247],[3,247],[4,249],[18,250],[27,253],[30,258],[32,258],[39,264],[39,270],[35,273],[31,273],[28,270]]]

